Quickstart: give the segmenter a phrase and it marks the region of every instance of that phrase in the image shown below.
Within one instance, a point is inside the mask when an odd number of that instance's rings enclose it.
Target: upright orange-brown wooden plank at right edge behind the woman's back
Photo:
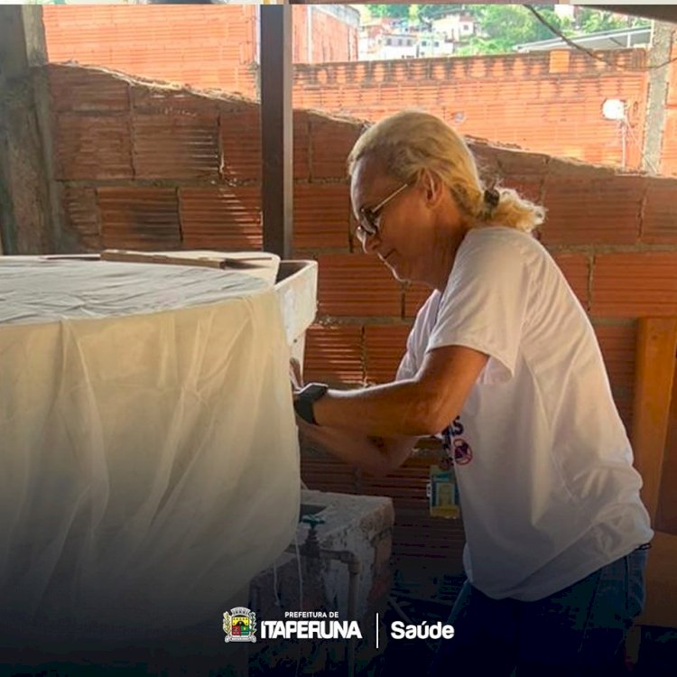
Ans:
[[[656,515],[670,419],[677,349],[677,318],[643,318],[637,331],[632,442],[635,468],[644,480],[642,499]]]

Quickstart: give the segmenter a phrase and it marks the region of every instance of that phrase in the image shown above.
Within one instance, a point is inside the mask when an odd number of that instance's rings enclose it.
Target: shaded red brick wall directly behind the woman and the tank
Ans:
[[[64,250],[261,246],[255,102],[77,67],[48,73]],[[294,112],[293,244],[297,257],[320,264],[305,376],[352,385],[394,376],[427,295],[396,283],[351,237],[344,162],[360,129]],[[472,146],[489,175],[549,209],[543,243],[589,312],[630,428],[636,319],[677,315],[677,179]],[[427,516],[426,453],[377,481],[314,455],[302,473],[311,488],[394,496],[394,552],[459,563],[461,525]]]

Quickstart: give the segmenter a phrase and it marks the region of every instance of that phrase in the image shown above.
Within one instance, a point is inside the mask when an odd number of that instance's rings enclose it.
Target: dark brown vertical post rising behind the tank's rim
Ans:
[[[259,11],[264,251],[285,259],[292,255],[292,7]]]

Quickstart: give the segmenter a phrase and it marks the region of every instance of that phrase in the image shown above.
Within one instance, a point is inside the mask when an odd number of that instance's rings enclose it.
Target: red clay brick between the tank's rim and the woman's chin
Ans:
[[[402,292],[376,256],[318,257],[319,312],[333,316],[400,317]]]

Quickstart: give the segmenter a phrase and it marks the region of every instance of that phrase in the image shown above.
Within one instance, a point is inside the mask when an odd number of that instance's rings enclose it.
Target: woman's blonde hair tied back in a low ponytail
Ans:
[[[348,174],[366,157],[385,163],[400,181],[428,170],[449,188],[470,226],[505,226],[531,232],[543,223],[545,209],[512,188],[487,189],[468,145],[439,117],[403,110],[362,134],[348,155]]]

